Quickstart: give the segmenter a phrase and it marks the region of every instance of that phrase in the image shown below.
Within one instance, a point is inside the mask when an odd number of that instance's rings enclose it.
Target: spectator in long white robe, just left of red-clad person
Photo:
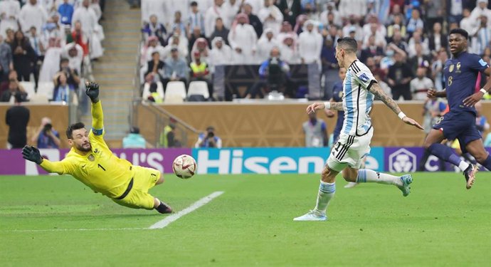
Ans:
[[[51,82],[55,74],[60,70],[60,58],[63,53],[61,40],[59,38],[50,38],[48,48],[44,53],[44,61],[39,72],[40,82]]]

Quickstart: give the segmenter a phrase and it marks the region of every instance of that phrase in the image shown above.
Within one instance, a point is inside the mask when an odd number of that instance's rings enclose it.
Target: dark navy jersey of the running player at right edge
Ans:
[[[487,63],[476,54],[462,52],[455,58],[445,62],[446,91],[450,111],[470,111],[475,113],[474,107],[465,107],[463,101],[475,93],[477,74],[489,68]]]

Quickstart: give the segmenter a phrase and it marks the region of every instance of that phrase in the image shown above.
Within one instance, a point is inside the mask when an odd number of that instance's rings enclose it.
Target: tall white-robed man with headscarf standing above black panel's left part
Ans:
[[[249,18],[241,13],[233,21],[231,31],[228,33],[228,43],[233,49],[233,62],[236,64],[254,64],[258,36],[254,27],[249,24]]]

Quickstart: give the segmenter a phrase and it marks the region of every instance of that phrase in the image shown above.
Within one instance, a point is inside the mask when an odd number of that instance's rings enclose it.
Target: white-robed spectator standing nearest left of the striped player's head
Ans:
[[[320,64],[320,53],[322,51],[322,36],[314,27],[312,21],[305,22],[305,28],[298,37],[298,53],[302,64]]]

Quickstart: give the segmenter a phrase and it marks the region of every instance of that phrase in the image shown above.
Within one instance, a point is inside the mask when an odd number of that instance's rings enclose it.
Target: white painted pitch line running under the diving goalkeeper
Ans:
[[[93,229],[13,229],[13,230],[0,230],[1,232],[51,232],[51,231],[131,231],[131,230],[152,230],[152,229],[162,229],[165,226],[168,226],[171,224],[171,222],[176,221],[177,219],[181,218],[182,216],[189,214],[191,211],[194,211],[196,209],[201,208],[201,206],[204,206],[205,204],[208,204],[211,200],[213,200],[216,197],[219,197],[221,194],[223,194],[222,191],[217,191],[209,194],[208,196],[199,199],[198,201],[194,202],[191,204],[191,206],[188,206],[186,209],[183,209],[181,211],[178,211],[176,214],[171,214],[170,216],[165,217],[165,219],[162,219],[161,221],[157,221],[157,223],[153,224],[149,228],[93,228]]]

